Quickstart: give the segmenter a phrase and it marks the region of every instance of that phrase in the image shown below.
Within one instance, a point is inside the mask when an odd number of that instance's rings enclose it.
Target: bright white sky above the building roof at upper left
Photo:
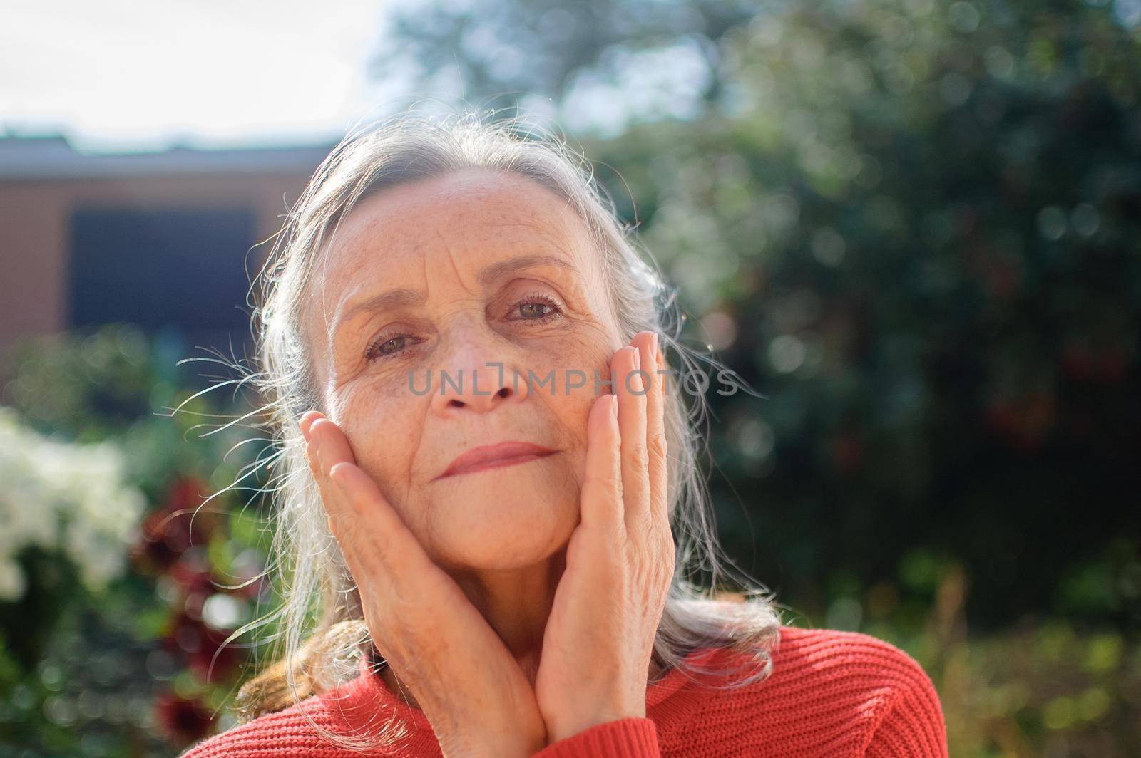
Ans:
[[[386,92],[377,0],[2,0],[0,130],[89,149],[311,142]]]

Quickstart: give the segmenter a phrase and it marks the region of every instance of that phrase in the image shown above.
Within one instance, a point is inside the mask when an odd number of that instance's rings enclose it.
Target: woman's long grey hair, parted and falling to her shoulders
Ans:
[[[281,692],[297,704],[302,695],[332,688],[358,671],[371,639],[364,626],[359,595],[343,555],[329,531],[319,492],[305,458],[298,419],[306,410],[322,409],[311,356],[304,339],[302,294],[318,271],[318,251],[330,233],[362,198],[402,184],[466,169],[515,172],[555,191],[573,207],[590,231],[604,259],[602,270],[622,337],[641,331],[658,335],[663,352],[673,354],[680,381],[670,382],[666,398],[666,442],[670,451],[667,498],[677,546],[675,572],[654,639],[659,670],[682,669],[687,675],[711,669],[690,666],[687,655],[704,647],[728,647],[746,653],[747,666],[734,671],[729,684],[758,680],[771,671],[770,650],[778,642],[780,619],[771,595],[741,573],[722,554],[709,491],[698,459],[707,426],[707,406],[701,392],[682,388],[689,375],[701,374],[698,361],[719,368],[719,378],[746,388],[730,369],[681,342],[686,315],[677,291],[648,252],[639,252],[632,229],[624,226],[593,168],[565,139],[518,117],[493,120],[475,111],[444,117],[411,111],[378,124],[357,127],[317,168],[308,186],[286,214],[273,250],[262,267],[260,303],[254,308],[257,360],[261,369],[246,377],[267,404],[267,427],[274,454],[267,462],[277,468],[273,482],[276,529],[272,554],[282,603],[235,635],[273,623],[275,639],[285,655],[273,676]],[[697,384],[705,374],[697,377]],[[707,385],[707,384],[706,384]],[[752,393],[752,392],[751,392]],[[701,579],[704,578],[704,581]],[[727,580],[731,584],[727,585]],[[719,590],[731,586],[731,595]],[[278,647],[280,650],[280,647]],[[319,654],[316,654],[316,652]],[[698,671],[697,669],[702,669]],[[717,671],[728,674],[726,669]],[[265,677],[266,675],[262,675]],[[267,700],[249,684],[243,696]],[[256,712],[254,711],[248,711]],[[330,732],[302,709],[310,725],[334,743],[366,750],[375,742]],[[394,716],[395,719],[395,716]],[[389,723],[380,737],[390,742],[402,734]]]

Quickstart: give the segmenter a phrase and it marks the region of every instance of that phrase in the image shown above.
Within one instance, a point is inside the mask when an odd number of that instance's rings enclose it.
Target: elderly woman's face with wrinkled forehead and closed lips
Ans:
[[[325,252],[305,310],[327,415],[428,554],[510,569],[563,547],[622,347],[577,214],[529,179],[469,170],[363,201]],[[553,453],[453,466],[503,442]]]

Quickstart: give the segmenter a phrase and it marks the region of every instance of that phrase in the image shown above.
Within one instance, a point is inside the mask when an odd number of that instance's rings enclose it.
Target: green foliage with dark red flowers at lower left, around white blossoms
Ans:
[[[149,505],[120,548],[129,573],[102,592],[79,581],[66,555],[21,554],[26,592],[0,602],[0,745],[171,755],[232,718],[254,638],[228,637],[274,602],[258,578],[267,514],[258,475],[243,482],[254,496],[208,496],[251,463],[241,458],[250,446],[234,449],[249,430],[222,429],[251,406],[241,396],[192,399],[175,359],[126,325],[31,341],[10,356],[3,410],[60,442],[114,446]]]

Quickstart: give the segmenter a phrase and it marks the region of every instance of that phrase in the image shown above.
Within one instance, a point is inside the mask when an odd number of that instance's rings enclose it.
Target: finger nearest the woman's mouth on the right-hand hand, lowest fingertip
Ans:
[[[623,524],[618,399],[600,394],[586,419],[586,473],[582,482],[582,523],[613,530]]]

